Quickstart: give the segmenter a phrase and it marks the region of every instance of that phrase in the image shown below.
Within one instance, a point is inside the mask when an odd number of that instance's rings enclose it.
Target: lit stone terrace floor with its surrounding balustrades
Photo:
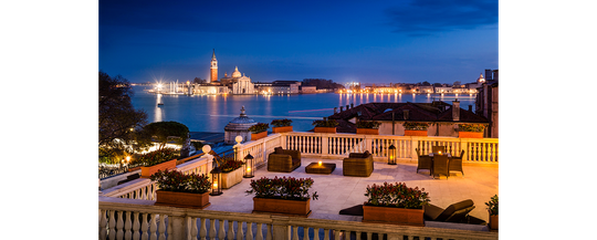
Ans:
[[[398,165],[387,165],[387,147],[397,146]],[[448,179],[432,179],[429,171],[416,173],[417,158],[413,148],[428,153],[431,146],[447,146],[449,152],[467,152],[462,174],[451,174]],[[283,133],[237,145],[239,158],[251,154],[261,166],[255,178],[274,176],[311,177],[313,191],[318,200],[311,201],[313,213],[308,218],[251,213],[252,196],[247,195],[250,179],[223,190],[223,195],[210,197],[211,206],[205,210],[153,206],[156,186],[149,179],[133,181],[105,189],[98,197],[100,239],[498,239],[485,226],[441,223],[426,221],[426,227],[390,226],[360,222],[363,217],[341,216],[341,209],[366,201],[367,185],[384,181],[406,182],[409,187],[425,188],[432,205],[449,205],[472,199],[475,209],[471,216],[488,221],[484,202],[499,192],[498,140],[465,139],[453,137],[404,137],[355,134]],[[302,165],[292,173],[266,170],[268,155],[276,146],[302,152]],[[374,153],[374,173],[370,177],[343,176],[342,158],[348,153]],[[470,152],[470,153],[469,153]],[[415,152],[416,153],[416,152]],[[415,154],[416,156],[416,154]],[[305,166],[322,160],[336,164],[331,175],[306,174]],[[186,173],[209,173],[210,156],[177,166]],[[124,212],[124,213],[123,213]],[[248,228],[248,226],[250,226]],[[317,232],[317,233],[315,233]],[[360,233],[364,232],[363,238]],[[305,238],[307,236],[307,238]]]

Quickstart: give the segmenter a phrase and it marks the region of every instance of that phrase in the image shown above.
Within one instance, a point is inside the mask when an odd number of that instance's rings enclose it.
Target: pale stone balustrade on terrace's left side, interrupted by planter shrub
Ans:
[[[195,173],[210,176],[209,171],[211,170],[212,161],[213,156],[205,155],[200,158],[178,165],[176,168],[184,174]],[[105,197],[155,200],[156,190],[158,190],[156,184],[149,178],[137,178],[132,181],[104,189],[102,194]]]

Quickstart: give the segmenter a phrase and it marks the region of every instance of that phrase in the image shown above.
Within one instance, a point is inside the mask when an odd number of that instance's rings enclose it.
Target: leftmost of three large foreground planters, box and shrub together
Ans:
[[[211,182],[203,174],[184,175],[178,170],[158,170],[151,175],[151,180],[159,187],[155,205],[196,209],[203,209],[210,205]]]

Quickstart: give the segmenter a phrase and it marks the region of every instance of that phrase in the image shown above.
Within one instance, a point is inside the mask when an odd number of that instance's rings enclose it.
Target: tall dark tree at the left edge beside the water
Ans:
[[[135,140],[135,131],[147,124],[147,114],[130,104],[134,92],[128,80],[122,75],[111,77],[103,71],[97,75],[98,155],[114,161],[132,152],[126,145]]]

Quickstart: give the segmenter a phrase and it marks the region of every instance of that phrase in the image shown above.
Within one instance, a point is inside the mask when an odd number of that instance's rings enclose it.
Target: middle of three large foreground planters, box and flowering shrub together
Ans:
[[[248,194],[255,194],[253,197],[253,212],[270,212],[308,217],[311,215],[311,194],[308,189],[313,186],[311,178],[282,177],[251,180],[251,189]],[[318,197],[317,191],[313,192],[313,200]]]

